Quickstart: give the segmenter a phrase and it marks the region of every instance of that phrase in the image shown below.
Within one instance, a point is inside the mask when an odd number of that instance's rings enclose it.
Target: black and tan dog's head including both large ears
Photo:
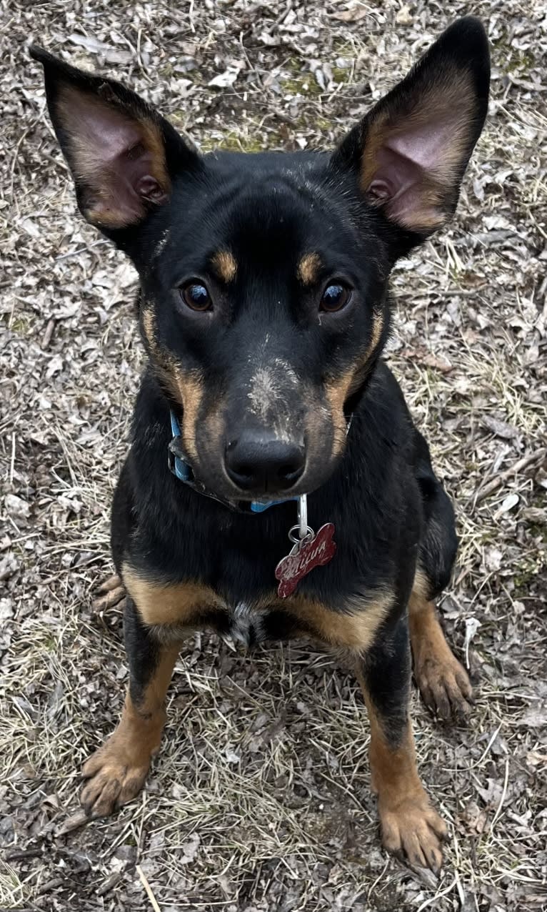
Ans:
[[[389,271],[456,208],[488,103],[482,26],[450,26],[333,154],[201,156],[118,82],[31,53],[79,208],[139,271],[196,476],[228,498],[319,487],[387,337]]]

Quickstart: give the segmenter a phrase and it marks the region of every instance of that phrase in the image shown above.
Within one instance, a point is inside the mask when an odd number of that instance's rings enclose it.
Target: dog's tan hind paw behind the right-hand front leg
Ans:
[[[416,663],[414,677],[424,702],[441,719],[467,720],[473,690],[467,671],[447,647],[442,659],[424,655]]]

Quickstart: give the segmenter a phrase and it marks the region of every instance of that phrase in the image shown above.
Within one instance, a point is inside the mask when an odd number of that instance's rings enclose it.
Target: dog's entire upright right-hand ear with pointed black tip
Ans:
[[[418,243],[447,222],[488,109],[490,57],[479,19],[450,26],[352,130],[336,166],[358,171],[366,201]]]

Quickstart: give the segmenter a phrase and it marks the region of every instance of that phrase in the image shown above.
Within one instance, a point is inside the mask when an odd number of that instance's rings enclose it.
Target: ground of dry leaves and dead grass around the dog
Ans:
[[[441,614],[468,728],[413,698],[449,823],[437,881],[380,848],[356,681],[313,645],[181,654],[148,787],[81,825],[78,769],[127,678],[108,510],[143,358],[135,275],[77,216],[29,40],[126,80],[203,150],[330,146],[456,16],[425,4],[0,0],[0,907],[547,907],[547,18],[478,2],[490,118],[448,230],[398,265],[387,357],[458,510]]]

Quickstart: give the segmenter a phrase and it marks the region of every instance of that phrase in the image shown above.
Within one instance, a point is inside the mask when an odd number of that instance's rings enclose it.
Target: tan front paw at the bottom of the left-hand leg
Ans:
[[[84,810],[91,817],[112,814],[139,794],[149,769],[150,758],[136,762],[114,732],[82,769],[89,780],[80,796]]]

